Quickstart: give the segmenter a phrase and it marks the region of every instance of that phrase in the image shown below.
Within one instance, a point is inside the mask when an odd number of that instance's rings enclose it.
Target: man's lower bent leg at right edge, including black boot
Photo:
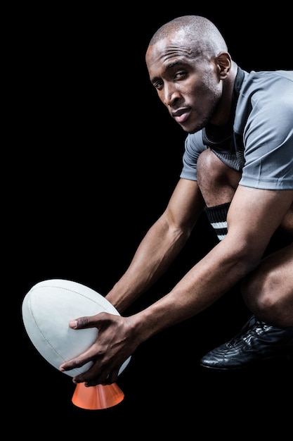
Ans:
[[[252,316],[240,333],[202,357],[216,371],[293,357],[293,244],[267,256],[242,282]]]

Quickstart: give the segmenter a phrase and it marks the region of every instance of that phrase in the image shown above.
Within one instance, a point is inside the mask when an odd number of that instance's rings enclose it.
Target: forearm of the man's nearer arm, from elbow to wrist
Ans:
[[[133,317],[140,342],[207,309],[256,265],[245,250],[227,249],[217,244],[171,292]]]

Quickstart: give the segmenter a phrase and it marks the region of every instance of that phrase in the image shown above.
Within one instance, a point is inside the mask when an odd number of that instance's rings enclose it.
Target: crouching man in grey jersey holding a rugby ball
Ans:
[[[278,228],[293,235],[293,71],[245,72],[214,24],[195,15],[159,28],[145,59],[159,99],[188,133],[183,169],[167,208],[106,298],[123,313],[167,271],[203,210],[219,243],[143,311],[72,320],[77,330],[99,330],[84,354],[60,366],[93,361],[73,378],[88,386],[114,383],[139,344],[207,309],[240,281],[253,316],[233,340],[203,356],[202,366],[242,368],[293,352],[292,240],[266,256]]]

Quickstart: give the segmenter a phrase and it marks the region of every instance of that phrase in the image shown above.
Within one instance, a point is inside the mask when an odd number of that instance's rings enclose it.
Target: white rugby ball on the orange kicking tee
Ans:
[[[22,301],[22,321],[27,335],[41,356],[59,369],[60,364],[88,349],[98,337],[97,328],[73,330],[73,318],[93,316],[100,312],[119,315],[105,297],[71,280],[51,279],[34,285]],[[129,364],[124,361],[119,374]],[[74,377],[89,369],[90,361],[80,368],[64,372]]]

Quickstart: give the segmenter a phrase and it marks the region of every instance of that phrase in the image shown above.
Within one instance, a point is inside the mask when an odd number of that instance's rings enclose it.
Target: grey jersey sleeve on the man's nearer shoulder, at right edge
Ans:
[[[284,88],[275,80],[271,87],[276,87],[275,94],[263,90],[252,98],[252,111],[243,132],[245,166],[240,185],[290,190],[293,189],[293,82],[287,81]]]

